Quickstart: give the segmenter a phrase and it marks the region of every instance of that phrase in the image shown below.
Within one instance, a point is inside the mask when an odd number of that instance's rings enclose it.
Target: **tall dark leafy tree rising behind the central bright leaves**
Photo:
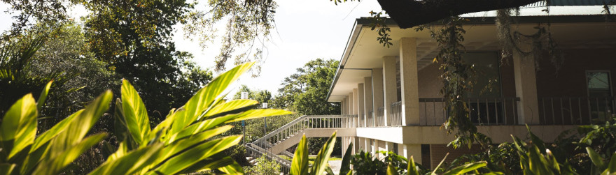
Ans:
[[[85,19],[85,36],[98,59],[109,63],[134,86],[155,116],[188,100],[211,80],[211,73],[190,61],[192,54],[176,51],[174,24],[193,5],[183,0],[88,1],[92,13]]]

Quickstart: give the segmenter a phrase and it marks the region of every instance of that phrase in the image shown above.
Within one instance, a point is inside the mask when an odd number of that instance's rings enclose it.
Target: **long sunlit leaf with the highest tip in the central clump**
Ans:
[[[186,105],[182,107],[185,112],[175,117],[171,132],[179,132],[185,126],[193,123],[232,82],[239,78],[239,75],[246,72],[253,64],[254,62],[241,64],[216,77],[203,89],[197,91],[195,96],[190,98]]]

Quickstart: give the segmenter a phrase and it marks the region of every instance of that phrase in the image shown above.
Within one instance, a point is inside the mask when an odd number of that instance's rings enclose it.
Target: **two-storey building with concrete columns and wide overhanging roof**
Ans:
[[[549,142],[563,130],[614,113],[616,78],[611,73],[616,71],[616,22],[606,22],[604,15],[596,13],[601,11],[520,16],[512,24],[512,30],[530,35],[549,21],[563,54],[558,71],[547,59],[548,53],[536,59],[537,66],[533,56],[519,54],[503,62],[494,17],[467,18],[463,59],[477,70],[477,84],[467,104],[479,132],[495,144],[512,142],[511,135],[526,136],[527,124]],[[447,147],[455,138],[441,128],[447,111],[439,93],[442,70],[433,63],[439,50],[430,32],[399,29],[392,22],[388,26],[393,45],[384,47],[371,22],[356,20],[329,91],[328,101],[340,102],[342,115],[298,119],[254,142],[264,148],[261,151],[279,154],[297,144],[302,134],[328,137],[333,130],[343,138],[343,149],[353,143],[353,153],[393,151],[407,158],[413,155],[416,162],[431,168],[446,153],[451,153],[450,161],[479,151],[479,146]],[[529,43],[520,46],[528,49]],[[491,91],[481,91],[487,84]]]

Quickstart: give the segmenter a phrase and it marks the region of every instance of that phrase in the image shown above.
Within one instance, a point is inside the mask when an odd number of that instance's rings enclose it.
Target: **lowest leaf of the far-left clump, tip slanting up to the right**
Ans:
[[[92,135],[83,139],[83,141],[68,147],[62,153],[55,154],[55,157],[45,158],[40,165],[36,167],[33,174],[59,174],[64,167],[68,166],[85,152],[90,147],[94,146],[98,142],[101,142],[107,135],[105,133]]]

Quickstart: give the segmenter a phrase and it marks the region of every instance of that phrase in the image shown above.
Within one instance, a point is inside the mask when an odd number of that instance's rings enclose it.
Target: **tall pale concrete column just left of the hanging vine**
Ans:
[[[419,125],[419,82],[415,38],[400,39],[402,125]]]

